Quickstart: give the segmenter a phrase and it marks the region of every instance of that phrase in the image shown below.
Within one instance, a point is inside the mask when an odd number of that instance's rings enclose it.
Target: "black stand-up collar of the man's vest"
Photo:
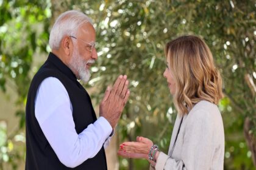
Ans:
[[[66,64],[64,64],[58,56],[54,55],[54,53],[52,53],[52,52],[49,53],[48,61],[50,61],[52,64],[54,64],[54,66],[56,66],[57,69],[59,69],[62,73],[64,73],[71,80],[77,81],[76,75],[74,75],[72,70],[69,69],[69,67],[66,66]]]

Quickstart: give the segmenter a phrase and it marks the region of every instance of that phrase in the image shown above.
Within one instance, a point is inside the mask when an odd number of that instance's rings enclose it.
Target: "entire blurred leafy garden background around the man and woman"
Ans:
[[[24,169],[25,105],[31,78],[48,57],[57,16],[80,10],[94,21],[99,59],[84,84],[98,110],[105,88],[119,74],[131,95],[107,149],[108,169],[148,169],[146,160],[116,155],[137,135],[168,152],[177,112],[163,72],[165,43],[198,35],[212,50],[225,97],[224,169],[256,169],[256,1],[6,1],[0,0],[0,169]],[[63,125],[64,126],[64,125]]]

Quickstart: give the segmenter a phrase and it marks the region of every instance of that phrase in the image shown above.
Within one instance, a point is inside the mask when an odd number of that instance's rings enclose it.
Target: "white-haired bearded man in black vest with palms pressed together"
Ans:
[[[62,13],[52,27],[52,52],[30,84],[26,105],[25,169],[107,169],[104,147],[129,97],[126,75],[107,88],[96,118],[87,91],[98,56],[95,30],[84,13]]]

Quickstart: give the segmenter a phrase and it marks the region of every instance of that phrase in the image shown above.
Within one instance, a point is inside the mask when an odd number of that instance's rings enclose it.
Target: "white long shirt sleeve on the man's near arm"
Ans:
[[[35,117],[57,157],[69,168],[93,158],[112,132],[108,121],[99,117],[77,134],[68,92],[54,77],[46,78],[38,87]]]

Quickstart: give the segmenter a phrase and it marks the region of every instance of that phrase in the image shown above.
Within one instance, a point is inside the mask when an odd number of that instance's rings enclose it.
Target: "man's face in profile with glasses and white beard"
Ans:
[[[94,46],[96,33],[90,23],[83,24],[73,41],[73,52],[69,61],[69,67],[74,70],[77,79],[87,83],[90,79],[90,67],[97,59],[98,55]]]

